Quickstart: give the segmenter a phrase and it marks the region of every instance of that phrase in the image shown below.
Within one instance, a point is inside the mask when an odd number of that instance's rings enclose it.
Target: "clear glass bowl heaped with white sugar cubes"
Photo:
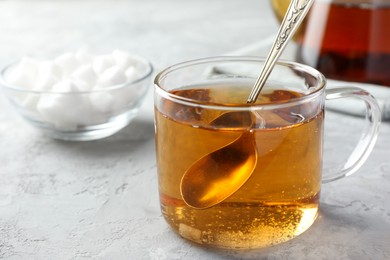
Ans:
[[[152,72],[148,60],[123,50],[78,50],[52,60],[23,57],[1,71],[0,85],[17,112],[47,136],[89,141],[130,123]]]

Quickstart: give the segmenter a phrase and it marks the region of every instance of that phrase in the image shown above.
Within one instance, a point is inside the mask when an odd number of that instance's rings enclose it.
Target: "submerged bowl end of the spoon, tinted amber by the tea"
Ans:
[[[252,126],[248,112],[227,112],[210,125]],[[252,175],[257,163],[253,133],[248,129],[233,142],[197,160],[183,175],[180,192],[189,206],[203,209],[224,201]]]

